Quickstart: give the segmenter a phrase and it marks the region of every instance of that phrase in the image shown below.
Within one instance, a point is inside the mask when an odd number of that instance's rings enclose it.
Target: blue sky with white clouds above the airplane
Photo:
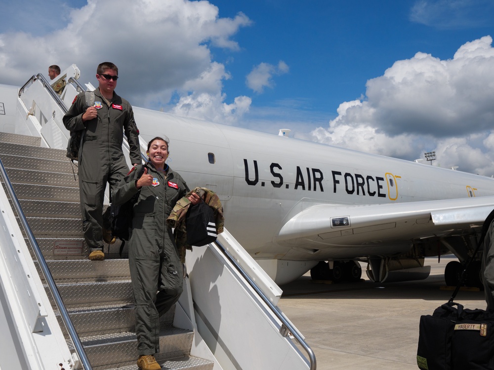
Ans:
[[[7,0],[0,83],[119,66],[131,104],[494,174],[492,0]]]

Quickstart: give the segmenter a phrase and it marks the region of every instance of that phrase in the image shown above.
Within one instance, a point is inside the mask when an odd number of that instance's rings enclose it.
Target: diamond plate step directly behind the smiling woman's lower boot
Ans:
[[[155,355],[156,361],[186,357],[190,354],[194,332],[165,327],[160,330],[161,353]],[[137,338],[135,333],[123,332],[106,335],[94,335],[81,338],[92,367],[111,369],[133,365],[137,360]],[[71,344],[69,344],[71,345]],[[166,369],[166,368],[165,368]]]

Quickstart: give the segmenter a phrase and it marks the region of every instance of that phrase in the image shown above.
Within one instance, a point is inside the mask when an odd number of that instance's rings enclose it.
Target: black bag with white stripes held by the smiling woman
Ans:
[[[201,247],[216,240],[216,223],[211,207],[205,202],[190,205],[185,216],[187,244]]]

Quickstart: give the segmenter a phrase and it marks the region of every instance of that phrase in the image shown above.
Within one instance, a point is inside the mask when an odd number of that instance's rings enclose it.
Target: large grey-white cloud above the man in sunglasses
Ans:
[[[64,14],[56,22],[53,13],[37,15],[37,22],[52,25],[44,33],[9,27],[0,34],[2,83],[22,85],[34,73],[46,76],[52,64],[62,70],[76,64],[80,80],[96,85],[97,65],[110,61],[119,67],[117,93],[133,105],[197,116],[184,109],[188,105],[212,114],[201,118],[221,122],[248,111],[247,97],[225,103],[223,81],[230,75],[210,50],[239,50],[233,37],[251,24],[244,13],[220,18],[208,1],[88,0]]]

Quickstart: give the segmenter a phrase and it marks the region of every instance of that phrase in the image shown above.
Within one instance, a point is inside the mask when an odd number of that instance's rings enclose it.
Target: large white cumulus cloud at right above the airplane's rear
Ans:
[[[318,142],[494,174],[494,49],[490,36],[461,45],[452,59],[418,52],[367,81],[365,97],[344,102]]]

